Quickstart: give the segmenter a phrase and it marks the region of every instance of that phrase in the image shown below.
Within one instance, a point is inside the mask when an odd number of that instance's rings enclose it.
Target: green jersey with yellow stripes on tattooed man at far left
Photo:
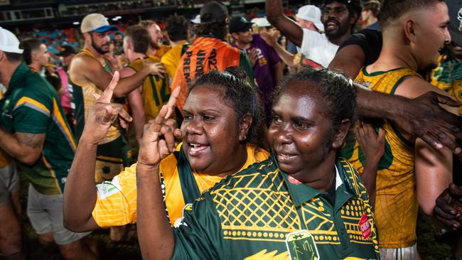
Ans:
[[[9,133],[45,134],[38,161],[31,166],[18,163],[33,188],[44,195],[63,193],[76,143],[56,91],[21,63],[0,99],[0,109],[0,125]]]

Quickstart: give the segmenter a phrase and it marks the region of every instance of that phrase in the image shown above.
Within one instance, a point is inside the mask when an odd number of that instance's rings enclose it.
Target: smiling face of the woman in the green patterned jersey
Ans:
[[[333,151],[327,104],[318,87],[306,84],[289,82],[284,87],[274,101],[267,134],[281,170],[303,183]]]

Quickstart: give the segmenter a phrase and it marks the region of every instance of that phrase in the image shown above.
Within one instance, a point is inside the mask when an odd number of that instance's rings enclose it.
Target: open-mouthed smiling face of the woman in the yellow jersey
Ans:
[[[247,132],[240,130],[237,114],[225,101],[222,87],[200,85],[191,90],[183,107],[183,151],[193,170],[211,174],[236,172],[246,157]],[[240,154],[244,151],[245,154]]]

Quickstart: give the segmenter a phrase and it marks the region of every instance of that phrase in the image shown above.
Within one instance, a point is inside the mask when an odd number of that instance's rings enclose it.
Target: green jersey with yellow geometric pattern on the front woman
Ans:
[[[362,180],[335,163],[335,202],[274,158],[227,176],[183,212],[172,259],[380,259]]]

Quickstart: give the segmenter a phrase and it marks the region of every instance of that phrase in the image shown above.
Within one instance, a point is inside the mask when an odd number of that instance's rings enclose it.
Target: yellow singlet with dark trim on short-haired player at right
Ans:
[[[363,67],[355,80],[371,90],[394,94],[398,85],[407,77],[420,75],[406,67],[373,73],[367,73]],[[391,121],[383,120],[377,127],[379,126],[385,129],[385,153],[377,170],[375,193],[375,220],[380,247],[410,247],[416,242],[419,210],[414,171],[414,143],[405,139]],[[360,173],[362,172],[365,161],[357,141],[348,143],[341,153]]]

